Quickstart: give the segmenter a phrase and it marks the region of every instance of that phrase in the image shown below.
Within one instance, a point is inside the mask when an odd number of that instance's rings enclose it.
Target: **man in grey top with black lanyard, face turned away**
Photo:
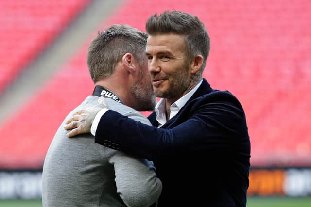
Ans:
[[[138,111],[154,108],[156,99],[145,56],[147,34],[112,25],[92,41],[87,64],[95,89],[71,111],[98,107],[104,98],[113,109],[141,123]],[[138,110],[138,111],[136,111]],[[113,121],[113,120],[111,120]],[[57,130],[43,166],[43,207],[148,207],[162,190],[153,163],[94,143],[90,133],[67,139],[65,121]]]

